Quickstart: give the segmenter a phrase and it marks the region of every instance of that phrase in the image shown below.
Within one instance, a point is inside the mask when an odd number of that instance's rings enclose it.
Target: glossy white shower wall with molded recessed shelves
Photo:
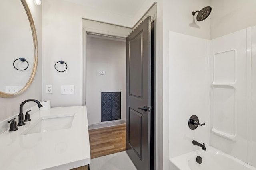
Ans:
[[[250,56],[246,49],[247,29],[212,40],[210,145],[251,164],[247,123]]]

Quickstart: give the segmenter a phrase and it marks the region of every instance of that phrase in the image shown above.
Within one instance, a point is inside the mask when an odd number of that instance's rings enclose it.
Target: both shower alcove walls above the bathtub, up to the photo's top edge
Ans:
[[[166,6],[169,158],[202,150],[196,140],[206,152],[211,146],[256,167],[255,0],[170,0]],[[212,7],[210,16],[192,27],[191,13],[205,6]],[[190,130],[191,115],[206,125]]]

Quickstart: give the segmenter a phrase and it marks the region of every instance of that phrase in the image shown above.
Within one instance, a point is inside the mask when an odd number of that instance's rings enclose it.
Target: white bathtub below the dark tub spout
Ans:
[[[202,157],[202,163],[196,162],[196,157]],[[253,166],[237,158],[221,152],[214,147],[194,150],[187,154],[170,159],[171,170],[256,170]]]

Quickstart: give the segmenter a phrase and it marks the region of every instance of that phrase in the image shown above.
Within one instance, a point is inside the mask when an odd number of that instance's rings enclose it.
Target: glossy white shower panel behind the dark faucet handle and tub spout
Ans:
[[[170,158],[210,145],[210,41],[170,31],[169,149]],[[185,50],[184,50],[185,49]],[[205,126],[191,130],[190,116]]]

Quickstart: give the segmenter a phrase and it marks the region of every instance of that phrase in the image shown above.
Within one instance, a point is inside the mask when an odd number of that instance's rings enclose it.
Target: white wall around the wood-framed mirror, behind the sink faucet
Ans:
[[[18,115],[19,106],[24,100],[29,98],[37,100],[42,99],[42,6],[37,6],[34,4],[33,0],[26,0],[26,2],[28,3],[36,26],[38,38],[38,68],[34,81],[26,92],[14,98],[0,98],[0,121],[11,117],[12,115]],[[24,109],[34,105],[34,102],[29,102],[28,104],[25,104]]]

